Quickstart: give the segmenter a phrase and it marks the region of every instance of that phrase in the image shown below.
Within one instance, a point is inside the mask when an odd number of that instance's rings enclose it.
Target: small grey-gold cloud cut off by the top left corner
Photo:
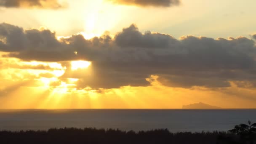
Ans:
[[[65,6],[58,3],[58,0],[0,0],[0,7],[58,9]]]

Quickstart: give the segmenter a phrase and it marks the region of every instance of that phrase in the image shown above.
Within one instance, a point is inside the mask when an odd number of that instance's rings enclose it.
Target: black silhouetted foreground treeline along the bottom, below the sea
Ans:
[[[120,131],[60,128],[48,131],[0,131],[0,144],[256,144],[256,125],[236,125],[228,132],[171,133],[167,129]]]

